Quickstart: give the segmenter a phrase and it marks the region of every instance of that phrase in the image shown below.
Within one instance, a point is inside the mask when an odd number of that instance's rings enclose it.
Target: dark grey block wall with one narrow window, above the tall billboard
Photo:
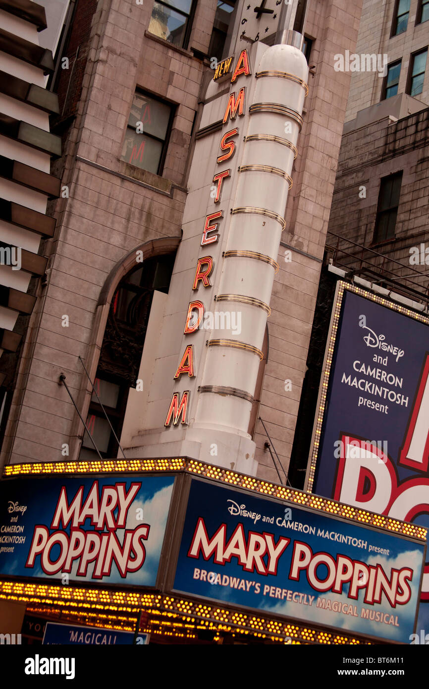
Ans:
[[[427,293],[429,280],[419,273],[425,265],[410,265],[410,247],[429,240],[429,109],[392,122],[388,118],[344,135],[339,154],[338,174],[328,230],[365,247],[372,247],[384,258],[370,251],[355,249],[359,258],[371,260],[384,271],[395,271],[399,285],[408,285]],[[373,244],[381,178],[403,170],[395,238]],[[365,187],[365,198],[359,187]],[[335,240],[328,236],[328,243]],[[339,243],[340,249],[347,247]],[[348,245],[347,250],[350,249]],[[343,256],[344,258],[344,256]],[[403,267],[393,263],[399,261]],[[349,260],[350,267],[358,265]],[[410,280],[404,276],[415,272]],[[412,280],[412,281],[411,281]],[[414,284],[413,284],[414,283]],[[399,287],[395,289],[398,291]]]

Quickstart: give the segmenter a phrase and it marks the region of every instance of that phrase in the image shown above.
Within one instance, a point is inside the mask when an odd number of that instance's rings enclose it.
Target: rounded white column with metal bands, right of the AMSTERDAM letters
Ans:
[[[289,38],[296,45],[297,34],[291,32]],[[210,333],[196,412],[198,427],[213,428],[216,419],[218,429],[231,427],[232,433],[245,434],[249,426],[308,92],[308,65],[295,45],[273,45],[255,73],[257,84],[216,296],[218,310],[241,312],[242,330],[229,339],[224,338],[224,331]]]

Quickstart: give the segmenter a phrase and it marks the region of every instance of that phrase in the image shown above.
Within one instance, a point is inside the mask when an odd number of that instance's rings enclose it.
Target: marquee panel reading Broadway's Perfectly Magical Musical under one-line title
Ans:
[[[425,544],[191,480],[174,590],[409,643]]]

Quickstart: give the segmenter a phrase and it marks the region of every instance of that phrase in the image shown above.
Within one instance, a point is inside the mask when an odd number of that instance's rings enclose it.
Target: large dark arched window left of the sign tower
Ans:
[[[175,254],[160,254],[134,265],[118,283],[110,302],[94,387],[118,438],[129,389],[136,387],[154,291],[168,292],[174,258]],[[118,441],[101,404],[92,393],[87,427],[101,456],[116,457]],[[79,460],[96,459],[85,431]]]

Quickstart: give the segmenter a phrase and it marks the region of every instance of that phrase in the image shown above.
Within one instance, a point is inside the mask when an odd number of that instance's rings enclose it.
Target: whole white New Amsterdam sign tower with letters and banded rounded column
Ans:
[[[213,457],[256,472],[249,420],[308,93],[302,36],[282,28],[291,11],[271,46],[243,35],[250,21],[238,17],[227,74],[205,92],[145,428],[129,457]]]

